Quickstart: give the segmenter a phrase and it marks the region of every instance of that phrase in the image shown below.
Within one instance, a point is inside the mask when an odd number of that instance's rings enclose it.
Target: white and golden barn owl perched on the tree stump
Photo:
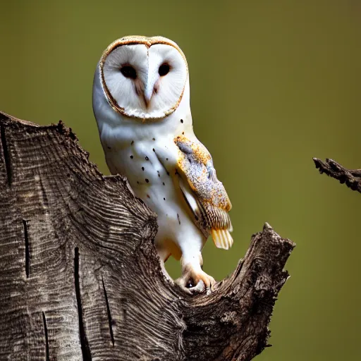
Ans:
[[[209,235],[231,247],[231,202],[193,132],[183,51],[165,37],[117,39],[97,64],[93,110],[109,170],[158,215],[161,261],[181,259],[184,289],[209,290],[201,251]]]

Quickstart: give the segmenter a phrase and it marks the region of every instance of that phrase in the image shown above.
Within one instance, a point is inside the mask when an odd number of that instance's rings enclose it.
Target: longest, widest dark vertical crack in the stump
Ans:
[[[92,361],[92,355],[90,354],[89,343],[87,341],[87,335],[85,334],[84,322],[82,319],[82,300],[80,295],[78,247],[75,247],[74,250],[74,282],[75,282],[76,303],[78,305],[79,336],[80,336],[80,346],[82,348],[82,360]]]

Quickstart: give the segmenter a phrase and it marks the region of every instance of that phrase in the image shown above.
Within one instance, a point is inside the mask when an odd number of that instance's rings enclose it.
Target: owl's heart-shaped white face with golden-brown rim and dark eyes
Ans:
[[[185,56],[165,37],[123,37],[99,61],[99,81],[107,102],[125,116],[157,119],[181,102],[188,79]]]

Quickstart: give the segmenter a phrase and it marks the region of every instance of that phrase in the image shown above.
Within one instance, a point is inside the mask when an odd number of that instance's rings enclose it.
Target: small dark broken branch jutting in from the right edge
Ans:
[[[319,169],[319,173],[325,173],[327,176],[337,179],[340,183],[345,183],[348,188],[357,190],[361,193],[361,169],[347,169],[333,159],[314,158],[314,165]]]

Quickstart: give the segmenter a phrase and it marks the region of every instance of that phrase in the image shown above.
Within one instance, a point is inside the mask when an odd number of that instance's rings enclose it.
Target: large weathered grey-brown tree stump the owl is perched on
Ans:
[[[0,113],[0,360],[251,360],[294,244],[266,224],[210,295],[164,276],[157,218],[75,135]]]

